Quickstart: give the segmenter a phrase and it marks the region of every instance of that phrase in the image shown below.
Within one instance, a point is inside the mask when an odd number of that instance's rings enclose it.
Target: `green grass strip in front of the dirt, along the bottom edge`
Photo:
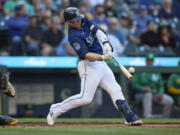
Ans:
[[[153,128],[4,128],[0,135],[179,135],[180,129]]]

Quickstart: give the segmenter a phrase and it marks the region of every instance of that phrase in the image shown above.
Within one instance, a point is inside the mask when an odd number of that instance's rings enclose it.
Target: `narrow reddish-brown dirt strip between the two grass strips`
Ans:
[[[180,124],[143,124],[142,126],[127,126],[124,124],[17,124],[16,126],[3,126],[8,128],[41,128],[41,127],[138,127],[138,128],[180,128]],[[0,128],[3,128],[0,126]]]

